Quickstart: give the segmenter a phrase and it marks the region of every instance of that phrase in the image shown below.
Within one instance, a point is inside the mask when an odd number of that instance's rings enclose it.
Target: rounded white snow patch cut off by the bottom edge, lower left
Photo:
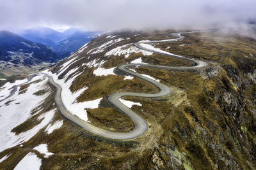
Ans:
[[[35,153],[29,152],[22,160],[20,160],[14,170],[37,170],[40,169],[41,165],[42,160],[38,158]]]

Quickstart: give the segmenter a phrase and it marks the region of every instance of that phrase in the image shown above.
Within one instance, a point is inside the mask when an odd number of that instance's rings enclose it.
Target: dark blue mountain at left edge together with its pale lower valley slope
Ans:
[[[49,65],[60,59],[48,46],[28,41],[12,32],[0,31],[0,74],[22,74],[25,71],[20,70],[22,66],[38,66],[43,62]]]

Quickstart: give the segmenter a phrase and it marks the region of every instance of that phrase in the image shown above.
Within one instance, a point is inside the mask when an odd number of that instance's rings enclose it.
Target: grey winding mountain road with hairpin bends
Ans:
[[[140,41],[138,43],[134,43],[134,46],[136,46],[137,48],[140,48],[141,50],[146,50],[148,52],[160,53],[163,55],[177,57],[179,59],[184,59],[184,60],[191,60],[191,62],[193,62],[195,66],[168,67],[168,66],[155,66],[155,65],[151,65],[151,64],[131,64],[130,63],[130,64],[123,64],[123,65],[120,65],[117,67],[117,69],[124,72],[125,74],[129,74],[131,76],[136,76],[136,77],[140,78],[141,80],[145,80],[145,81],[148,81],[149,83],[152,83],[153,85],[156,85],[156,87],[159,88],[159,92],[154,93],[154,94],[120,92],[120,93],[114,93],[114,94],[109,95],[109,97],[108,97],[109,102],[111,104],[113,104],[114,106],[116,106],[119,110],[122,110],[134,122],[135,127],[132,131],[125,132],[125,133],[110,132],[110,131],[106,131],[104,129],[100,129],[99,127],[95,127],[92,124],[85,122],[81,118],[76,117],[75,115],[70,113],[70,111],[68,111],[67,108],[65,107],[65,105],[63,104],[63,101],[61,99],[62,89],[61,89],[60,85],[58,85],[58,83],[54,82],[54,80],[51,76],[46,74],[46,76],[49,78],[49,82],[52,85],[54,85],[54,87],[56,88],[54,99],[55,99],[56,106],[57,106],[58,110],[60,111],[61,115],[65,118],[67,118],[68,120],[70,120],[71,122],[73,122],[74,124],[78,125],[79,127],[82,127],[86,131],[88,131],[92,134],[95,134],[97,136],[104,137],[104,138],[124,140],[124,139],[136,138],[136,137],[140,136],[141,134],[144,134],[145,131],[147,131],[147,129],[148,129],[147,122],[143,118],[141,118],[139,115],[134,113],[134,111],[132,111],[127,106],[125,106],[123,103],[121,103],[119,99],[124,96],[161,97],[161,96],[166,96],[166,95],[170,94],[172,92],[172,90],[170,89],[170,87],[167,87],[166,85],[164,85],[156,80],[152,80],[150,78],[142,76],[141,74],[134,73],[134,72],[130,71],[128,69],[128,67],[130,67],[130,66],[144,66],[144,67],[149,66],[149,67],[155,67],[157,69],[198,69],[200,67],[207,66],[207,62],[204,62],[204,61],[188,59],[188,58],[182,57],[180,55],[175,55],[175,54],[172,54],[169,52],[164,52],[157,48],[147,48],[147,45],[152,44],[152,43],[180,41],[180,40],[184,39],[184,36],[181,35],[184,33],[189,33],[189,32],[173,33],[172,36],[178,37],[175,39],[166,39],[166,40],[159,40],[159,41],[149,41],[149,40]],[[43,73],[43,74],[45,74],[45,73]],[[29,78],[28,78],[28,80],[29,80]],[[31,78],[30,78],[30,80],[31,80]],[[17,90],[17,87],[14,87],[10,96],[6,97],[5,99],[11,97],[15,93],[16,90]]]

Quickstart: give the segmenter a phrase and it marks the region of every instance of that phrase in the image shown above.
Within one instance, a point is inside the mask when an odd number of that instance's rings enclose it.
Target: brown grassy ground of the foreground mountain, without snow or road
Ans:
[[[136,39],[149,39],[145,35],[141,33]],[[179,46],[182,44],[186,45]],[[136,143],[120,145],[99,141],[99,138],[88,138],[86,132],[64,120],[61,129],[49,136],[40,132],[24,148],[12,148],[13,157],[11,155],[1,166],[13,167],[10,166],[13,164],[11,160],[21,159],[39,143],[48,143],[49,152],[54,155],[44,159],[36,153],[43,159],[43,169],[255,169],[255,41],[216,32],[189,34],[183,41],[158,45],[163,50],[167,46],[170,46],[168,50],[172,53],[214,60],[217,64],[196,73],[161,71],[147,67],[136,69],[138,73],[150,74],[173,89],[170,96],[159,99],[125,97],[142,104],[133,106],[132,110],[149,124],[148,131],[137,138]],[[86,51],[83,57],[87,62]],[[143,62],[149,61],[150,57],[142,56]],[[172,64],[171,61],[175,60],[157,57],[152,57],[150,62]],[[106,62],[104,67],[125,62],[122,56],[113,59]],[[58,66],[53,71],[58,71]],[[97,82],[104,86],[100,87]],[[156,90],[135,78],[125,81],[119,76],[97,78],[93,76],[92,69],[85,69],[71,89],[81,89],[84,85],[88,87],[88,95],[85,92],[80,96],[81,101],[95,99],[94,95],[103,97],[116,90]],[[109,130],[112,125],[118,131],[122,121],[127,120],[119,116],[116,118],[115,111],[109,108],[88,111],[95,118],[92,123]],[[57,114],[58,119],[61,117]],[[127,127],[131,127],[129,122],[125,122]],[[8,152],[1,153],[1,156]]]

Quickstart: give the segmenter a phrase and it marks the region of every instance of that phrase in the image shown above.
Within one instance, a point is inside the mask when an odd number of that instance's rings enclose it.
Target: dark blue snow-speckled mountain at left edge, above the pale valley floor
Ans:
[[[26,56],[26,59],[22,59],[22,55]],[[29,41],[9,31],[0,31],[0,60],[34,65],[39,62],[56,62],[60,59],[60,56],[48,46]]]

